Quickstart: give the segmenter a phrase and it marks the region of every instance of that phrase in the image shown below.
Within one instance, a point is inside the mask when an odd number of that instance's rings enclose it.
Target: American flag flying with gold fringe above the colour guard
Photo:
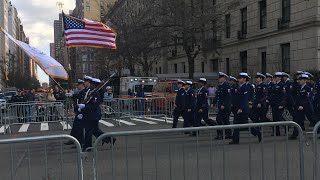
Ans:
[[[67,47],[98,47],[116,49],[116,33],[107,25],[88,19],[63,15]]]

